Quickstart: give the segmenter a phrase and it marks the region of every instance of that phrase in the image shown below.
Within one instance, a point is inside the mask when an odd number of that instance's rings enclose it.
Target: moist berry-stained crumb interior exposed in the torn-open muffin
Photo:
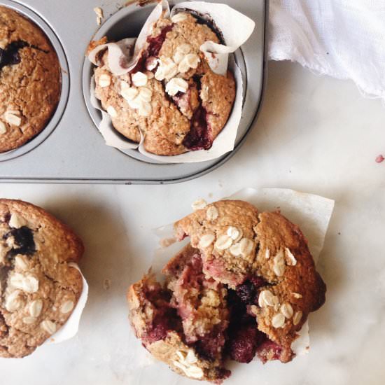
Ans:
[[[151,314],[141,336],[144,346],[176,332],[200,360],[216,368],[214,382],[230,375],[225,368],[228,358],[239,363],[249,363],[255,356],[263,363],[292,358],[292,352],[258,330],[251,307],[258,306],[258,295],[267,286],[264,279],[251,276],[235,290],[218,283],[204,275],[200,251],[190,245],[163,272],[164,285],[152,276],[140,290],[143,312]]]

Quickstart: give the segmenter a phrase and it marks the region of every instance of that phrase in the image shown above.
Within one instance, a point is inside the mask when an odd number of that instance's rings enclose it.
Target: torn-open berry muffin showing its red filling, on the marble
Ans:
[[[190,243],[162,270],[166,282],[149,274],[127,293],[137,337],[175,372],[213,382],[230,375],[225,358],[292,360],[326,290],[300,228],[243,201],[194,207],[174,224]]]

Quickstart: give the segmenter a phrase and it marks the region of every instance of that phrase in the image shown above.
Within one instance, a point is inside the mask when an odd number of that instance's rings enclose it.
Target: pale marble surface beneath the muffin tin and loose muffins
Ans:
[[[148,267],[151,229],[244,187],[293,188],[335,200],[319,267],[327,302],[311,316],[307,356],[234,365],[226,384],[383,384],[385,378],[385,108],[353,83],[271,62],[262,113],[226,165],[174,186],[0,185],[1,197],[52,211],[76,229],[90,295],[78,335],[23,360],[0,360],[1,384],[141,384],[130,377],[125,290]],[[385,155],[385,154],[384,154]],[[109,290],[105,279],[111,280]],[[144,352],[144,359],[146,353]],[[148,366],[165,384],[165,365]],[[143,382],[143,381],[142,381]],[[174,375],[171,384],[193,384]]]

